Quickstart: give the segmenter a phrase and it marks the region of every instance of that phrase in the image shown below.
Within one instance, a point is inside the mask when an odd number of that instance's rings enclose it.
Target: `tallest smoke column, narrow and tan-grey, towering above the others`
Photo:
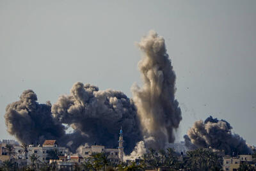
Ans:
[[[138,64],[143,87],[132,87],[133,100],[140,117],[143,135],[154,138],[145,142],[148,147],[164,148],[174,142],[173,131],[182,119],[179,103],[175,100],[175,73],[166,53],[164,39],[150,31],[138,43],[144,56]]]

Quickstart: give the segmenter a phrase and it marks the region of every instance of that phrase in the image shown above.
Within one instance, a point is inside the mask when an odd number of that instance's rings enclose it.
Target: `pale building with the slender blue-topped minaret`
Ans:
[[[124,161],[124,147],[123,147],[123,130],[120,130],[119,146],[118,149],[112,147],[105,147],[104,145],[91,145],[90,147],[84,147],[82,150],[83,158],[90,158],[93,153],[104,152],[108,156],[110,161],[118,163],[119,161]]]

